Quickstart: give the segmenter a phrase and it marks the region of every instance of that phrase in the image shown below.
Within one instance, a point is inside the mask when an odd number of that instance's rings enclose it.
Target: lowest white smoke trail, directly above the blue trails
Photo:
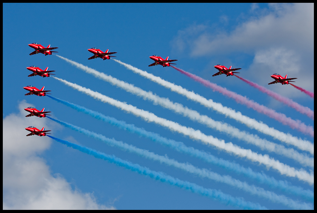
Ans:
[[[259,162],[260,164],[264,164],[267,168],[271,167],[279,171],[281,174],[285,174],[290,177],[296,177],[300,180],[306,181],[307,183],[313,185],[314,184],[314,175],[309,174],[304,169],[296,170],[294,167],[290,167],[286,164],[281,163],[278,160],[270,158],[267,154],[262,155],[255,152],[252,152],[250,149],[243,149],[231,142],[225,143],[223,140],[219,140],[217,138],[214,138],[211,135],[205,135],[200,130],[195,130],[193,128],[182,126],[176,122],[172,122],[169,120],[166,120],[164,118],[158,117],[154,115],[153,113],[145,110],[141,110],[136,108],[135,106],[131,104],[126,104],[123,102],[120,102],[118,100],[115,100],[113,98],[107,97],[105,95],[100,94],[99,92],[92,91],[90,89],[87,89],[85,87],[76,85],[74,83],[70,83],[66,80],[63,80],[61,78],[53,77],[65,85],[68,85],[78,91],[81,91],[95,99],[98,99],[104,103],[109,103],[121,110],[124,110],[128,113],[132,113],[135,116],[139,116],[142,119],[144,119],[147,122],[155,122],[161,126],[169,128],[171,131],[176,131],[178,133],[181,133],[183,135],[187,135],[190,138],[194,140],[200,140],[204,144],[212,145],[214,147],[217,147],[220,150],[224,150],[228,153],[233,153],[239,157],[245,157],[249,160]]]

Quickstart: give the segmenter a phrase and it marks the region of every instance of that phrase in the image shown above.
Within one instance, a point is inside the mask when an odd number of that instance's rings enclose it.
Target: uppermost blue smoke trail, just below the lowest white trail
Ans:
[[[84,112],[98,120],[102,120],[104,122],[110,123],[111,125],[118,127],[120,129],[126,130],[128,132],[131,133],[135,133],[139,136],[142,137],[146,137],[151,139],[154,142],[158,142],[162,145],[168,146],[178,152],[181,153],[186,153],[192,157],[196,157],[199,158],[201,160],[204,160],[208,163],[220,166],[226,170],[229,171],[234,171],[238,174],[243,174],[251,179],[255,179],[257,180],[259,183],[261,184],[267,184],[268,186],[270,186],[273,189],[281,189],[284,192],[288,192],[292,195],[297,195],[297,196],[301,196],[304,199],[307,199],[311,202],[314,202],[314,192],[310,191],[310,190],[304,190],[302,187],[299,186],[293,186],[291,185],[291,183],[288,183],[287,181],[283,181],[283,180],[276,180],[274,177],[269,177],[264,173],[260,173],[260,172],[254,172],[251,168],[245,168],[237,163],[233,163],[230,162],[228,160],[223,160],[223,159],[219,159],[214,155],[211,155],[209,153],[206,153],[204,151],[195,149],[193,147],[187,147],[184,143],[182,142],[178,142],[178,141],[174,141],[171,139],[167,139],[164,138],[162,136],[160,136],[157,133],[153,133],[153,132],[148,132],[143,128],[138,128],[136,126],[134,126],[133,124],[127,124],[124,121],[119,121],[113,117],[109,117],[109,116],[105,116],[99,112],[93,111],[93,110],[89,110],[85,107],[79,106],[77,104],[74,103],[70,103],[68,101],[64,101],[49,95],[46,95],[50,98],[52,98],[53,100],[62,103],[68,107],[71,107],[79,112]]]

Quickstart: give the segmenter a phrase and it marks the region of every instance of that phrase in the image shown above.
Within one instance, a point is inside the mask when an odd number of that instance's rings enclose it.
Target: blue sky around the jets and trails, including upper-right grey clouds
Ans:
[[[303,13],[303,11],[306,12]],[[314,110],[314,99],[291,85],[267,85],[272,81],[270,75],[278,72],[282,76],[288,74],[291,78],[298,78],[295,80],[296,85],[314,91],[314,4],[3,4],[3,134],[8,132],[3,137],[7,139],[3,142],[3,208],[39,209],[51,206],[51,208],[65,209],[235,209],[217,200],[155,181],[104,160],[96,159],[52,141],[48,137],[26,138],[24,135],[27,132],[23,128],[36,126],[36,124],[37,128],[45,125],[46,129],[52,130],[52,135],[57,138],[107,154],[114,154],[124,160],[205,188],[217,189],[234,197],[243,197],[246,201],[259,203],[269,209],[289,208],[229,185],[202,179],[133,153],[109,147],[101,141],[62,127],[47,118],[25,118],[27,112],[23,110],[23,107],[34,106],[39,110],[45,107],[46,110],[52,111],[50,114],[54,118],[100,133],[108,138],[114,138],[160,155],[166,154],[179,162],[189,162],[199,168],[207,168],[222,175],[231,175],[251,185],[284,194],[279,190],[272,190],[266,185],[258,184],[243,175],[228,172],[96,120],[57,103],[49,97],[24,96],[26,91],[23,90],[23,86],[26,85],[34,85],[37,88],[45,86],[46,90],[52,91],[50,93],[54,97],[115,117],[166,138],[182,141],[187,146],[204,150],[219,158],[250,167],[256,172],[264,172],[275,179],[287,180],[293,185],[314,191],[314,186],[296,178],[280,175],[275,170],[267,169],[256,162],[235,157],[193,141],[189,137],[171,132],[155,123],[148,123],[133,114],[75,91],[54,78],[27,77],[30,74],[26,69],[27,66],[36,65],[42,69],[48,66],[50,70],[56,71],[54,74],[58,78],[132,104],[139,109],[148,110],[184,126],[199,129],[206,135],[213,135],[225,142],[231,141],[254,152],[269,154],[296,169],[304,168],[308,172],[314,172],[314,168],[302,167],[294,160],[263,151],[159,105],[153,105],[152,102],[95,78],[54,55],[30,56],[29,53],[33,52],[33,49],[28,47],[28,44],[32,42],[40,43],[45,47],[49,44],[52,47],[59,47],[56,49],[59,52],[58,55],[126,81],[145,91],[152,91],[160,97],[168,97],[171,101],[182,103],[216,121],[227,122],[242,131],[281,143],[145,79],[113,60],[87,60],[92,56],[92,53],[87,51],[88,48],[97,47],[102,51],[109,49],[110,52],[117,52],[115,59],[181,85],[207,99],[220,102],[281,132],[291,133],[314,143],[313,137],[281,125],[263,114],[238,104],[171,67],[148,67],[152,63],[149,56],[153,54],[160,55],[162,58],[169,56],[170,59],[177,59],[176,66],[185,71],[249,97],[295,120],[314,126],[312,119],[257,91],[236,77],[223,75],[212,77],[217,72],[213,66],[217,64],[242,68],[241,77],[290,97]],[[24,127],[22,124],[27,126]],[[34,177],[28,172],[22,172],[22,170],[31,171],[28,168],[32,163],[28,162],[34,163],[32,166]],[[62,190],[47,190],[48,183],[43,182],[43,177],[49,180],[50,186],[55,183],[54,186],[59,186]],[[35,180],[42,181],[42,185],[35,184]],[[17,194],[20,198],[14,201],[13,197]],[[33,203],[29,201],[29,195],[38,197],[38,201]],[[44,199],[44,195],[51,199],[48,199],[49,201]],[[300,197],[287,193],[285,195],[305,202]],[[69,202],[65,202],[63,197],[68,197]]]

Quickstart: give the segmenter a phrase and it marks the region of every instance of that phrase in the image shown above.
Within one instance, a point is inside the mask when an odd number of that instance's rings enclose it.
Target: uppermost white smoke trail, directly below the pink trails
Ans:
[[[135,73],[137,73],[145,78],[148,78],[151,81],[158,83],[159,85],[164,86],[165,88],[170,89],[171,91],[177,92],[178,94],[183,95],[183,96],[187,97],[188,99],[191,99],[197,103],[200,103],[201,105],[203,105],[209,109],[213,109],[213,110],[215,110],[215,111],[217,111],[225,116],[228,116],[232,119],[235,119],[236,121],[247,125],[249,128],[254,128],[257,131],[262,132],[263,134],[266,134],[266,135],[270,135],[273,138],[280,140],[282,142],[289,143],[292,145],[297,144],[297,146],[301,146],[301,149],[309,150],[310,153],[314,154],[314,149],[309,148],[309,147],[311,147],[310,141],[302,140],[301,138],[295,137],[289,133],[285,134],[283,132],[280,132],[280,131],[276,130],[275,128],[269,127],[268,125],[266,125],[263,122],[259,122],[253,118],[248,117],[248,116],[244,116],[241,114],[241,112],[236,112],[235,110],[233,110],[229,107],[223,106],[221,103],[215,103],[211,99],[207,100],[205,97],[202,97],[201,95],[194,93],[193,91],[188,91],[179,85],[175,85],[171,82],[165,81],[164,79],[162,79],[160,77],[154,76],[151,73],[140,70],[140,69],[133,67],[129,64],[123,63],[119,60],[116,60],[116,59],[112,59],[112,60],[125,66],[127,69],[132,70],[133,72],[135,72]]]

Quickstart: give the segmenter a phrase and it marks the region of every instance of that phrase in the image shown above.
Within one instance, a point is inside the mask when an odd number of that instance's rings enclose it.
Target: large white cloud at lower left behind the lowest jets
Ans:
[[[23,108],[29,106],[23,101],[19,114],[3,118],[3,209],[114,209],[97,204],[91,193],[72,190],[60,175],[51,175],[45,160],[37,156],[50,147],[50,138],[26,137],[29,132],[24,130],[42,128],[49,122],[26,118]]]

